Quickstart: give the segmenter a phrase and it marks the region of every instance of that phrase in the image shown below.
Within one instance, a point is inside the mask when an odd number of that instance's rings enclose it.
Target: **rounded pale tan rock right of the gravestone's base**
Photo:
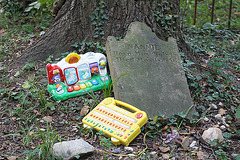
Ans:
[[[219,128],[209,128],[203,132],[202,138],[207,143],[213,141],[214,139],[223,140],[222,131]]]

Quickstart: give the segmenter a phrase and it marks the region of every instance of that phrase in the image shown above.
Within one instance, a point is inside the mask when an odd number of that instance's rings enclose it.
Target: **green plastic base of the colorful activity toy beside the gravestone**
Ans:
[[[104,77],[108,77],[108,79],[105,80],[105,81],[101,81],[101,78],[104,78]],[[87,87],[86,89],[80,89],[78,91],[68,92],[67,87],[69,87],[69,86],[67,86],[63,82],[61,82],[61,85],[62,85],[63,90],[64,90],[63,93],[57,93],[56,92],[56,85],[57,84],[53,84],[53,85],[48,84],[47,89],[50,92],[50,94],[53,96],[53,99],[55,101],[63,101],[63,100],[66,100],[68,98],[85,95],[85,94],[87,94],[91,91],[94,92],[94,91],[98,91],[98,90],[104,90],[104,89],[108,88],[111,84],[111,79],[110,79],[110,76],[108,76],[108,75],[106,75],[106,76],[93,75],[90,80],[87,80],[87,81],[84,81],[84,82],[78,82],[77,84],[86,84],[86,83],[91,82],[93,80],[97,80],[99,84],[98,85],[93,85],[91,87]],[[74,85],[72,85],[72,86],[74,86]]]

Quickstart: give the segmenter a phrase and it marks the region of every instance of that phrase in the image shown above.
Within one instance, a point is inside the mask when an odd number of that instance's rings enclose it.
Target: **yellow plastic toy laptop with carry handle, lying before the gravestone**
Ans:
[[[134,113],[123,109],[124,107]],[[82,122],[84,127],[103,131],[111,137],[113,144],[128,146],[141,133],[140,128],[147,120],[147,114],[138,108],[114,98],[106,98],[86,115]]]

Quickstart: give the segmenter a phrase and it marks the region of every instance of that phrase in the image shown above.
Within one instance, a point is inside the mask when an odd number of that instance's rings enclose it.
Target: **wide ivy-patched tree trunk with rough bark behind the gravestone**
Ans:
[[[71,45],[83,40],[105,45],[108,36],[124,38],[134,21],[146,23],[162,40],[176,38],[180,51],[191,59],[180,31],[179,3],[179,0],[66,0],[49,30],[19,60],[45,60],[50,55],[57,58],[73,51]]]

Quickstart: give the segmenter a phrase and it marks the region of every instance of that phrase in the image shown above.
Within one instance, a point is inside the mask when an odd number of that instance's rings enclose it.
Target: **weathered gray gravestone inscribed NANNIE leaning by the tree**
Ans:
[[[175,39],[160,40],[146,24],[133,22],[123,40],[107,38],[106,51],[116,99],[151,118],[185,113],[193,104]]]

